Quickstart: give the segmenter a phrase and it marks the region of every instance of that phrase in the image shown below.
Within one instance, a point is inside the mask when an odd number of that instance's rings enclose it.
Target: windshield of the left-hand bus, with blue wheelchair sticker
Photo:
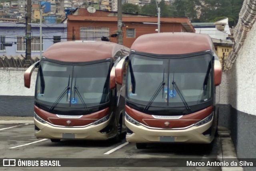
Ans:
[[[35,100],[52,110],[87,108],[110,100],[110,61],[67,65],[42,60],[38,69]]]

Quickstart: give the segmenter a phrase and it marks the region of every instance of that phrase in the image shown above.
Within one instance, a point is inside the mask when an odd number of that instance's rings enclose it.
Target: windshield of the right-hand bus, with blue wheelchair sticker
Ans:
[[[212,72],[209,53],[188,57],[131,54],[126,99],[145,105],[144,110],[150,106],[185,106],[190,110],[189,106],[212,98]]]

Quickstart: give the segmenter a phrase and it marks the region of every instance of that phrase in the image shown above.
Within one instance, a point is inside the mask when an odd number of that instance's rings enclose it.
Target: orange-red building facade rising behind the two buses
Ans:
[[[122,14],[123,45],[131,47],[137,37],[149,33],[157,33],[157,17],[139,14]],[[109,37],[117,43],[117,13],[96,10],[89,13],[86,9],[78,8],[73,15],[68,16],[68,40],[101,40]],[[195,32],[187,18],[161,18],[161,32]]]

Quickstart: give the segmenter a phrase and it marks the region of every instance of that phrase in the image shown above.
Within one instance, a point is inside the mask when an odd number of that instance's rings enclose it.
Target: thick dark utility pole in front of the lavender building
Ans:
[[[26,14],[26,67],[31,65],[31,0],[27,0]]]

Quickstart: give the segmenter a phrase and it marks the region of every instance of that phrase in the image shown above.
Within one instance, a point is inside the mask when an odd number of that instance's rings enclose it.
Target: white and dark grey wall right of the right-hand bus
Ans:
[[[256,23],[232,69],[223,73],[217,88],[219,125],[230,128],[239,158],[256,158]],[[221,94],[221,96],[220,96]],[[244,168],[252,171],[255,168]]]

